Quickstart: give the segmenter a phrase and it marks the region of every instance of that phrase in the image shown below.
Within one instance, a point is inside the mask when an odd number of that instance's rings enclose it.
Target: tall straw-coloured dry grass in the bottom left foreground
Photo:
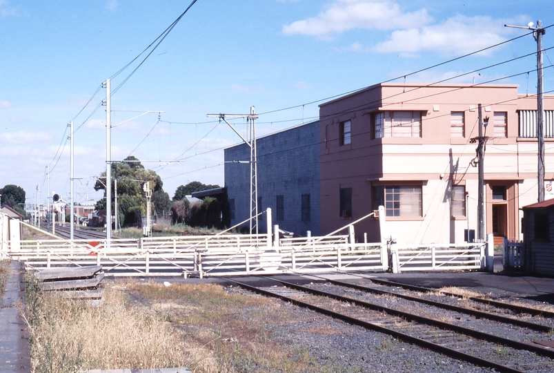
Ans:
[[[32,372],[184,366],[215,372],[208,351],[184,340],[152,310],[129,303],[120,290],[108,287],[103,307],[86,307],[41,294],[32,282],[30,287]]]

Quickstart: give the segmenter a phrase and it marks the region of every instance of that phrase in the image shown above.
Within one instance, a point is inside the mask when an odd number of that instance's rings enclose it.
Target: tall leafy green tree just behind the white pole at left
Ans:
[[[106,190],[106,173],[95,183],[95,190]],[[124,225],[141,224],[141,218],[146,213],[146,195],[143,187],[150,183],[152,204],[155,211],[170,209],[169,195],[164,191],[164,182],[155,171],[146,170],[137,157],[130,155],[123,162],[112,163],[112,198],[115,195],[115,180],[117,180],[117,220]],[[115,198],[112,200],[112,211],[115,212]],[[97,201],[97,211],[106,209],[106,194]]]

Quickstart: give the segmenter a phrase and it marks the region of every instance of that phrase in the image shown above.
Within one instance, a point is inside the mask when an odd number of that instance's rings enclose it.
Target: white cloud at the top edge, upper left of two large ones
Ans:
[[[310,35],[328,38],[330,35],[356,28],[393,30],[417,28],[431,22],[427,10],[403,12],[400,6],[387,0],[336,0],[317,17],[295,21],[283,26],[286,35]]]

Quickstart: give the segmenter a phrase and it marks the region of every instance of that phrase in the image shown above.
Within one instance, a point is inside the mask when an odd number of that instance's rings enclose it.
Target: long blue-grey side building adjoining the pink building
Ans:
[[[319,122],[311,122],[256,141],[258,211],[270,207],[273,224],[299,236],[320,233],[318,137]],[[249,161],[248,145],[225,149],[231,226],[250,217]],[[259,231],[267,231],[265,214],[259,216]]]

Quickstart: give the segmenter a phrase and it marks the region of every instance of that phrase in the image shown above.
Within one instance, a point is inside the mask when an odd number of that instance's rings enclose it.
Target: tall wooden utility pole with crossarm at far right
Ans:
[[[543,88],[542,88],[542,35],[546,32],[542,28],[542,21],[537,21],[537,27],[533,27],[533,22],[527,26],[511,26],[513,28],[526,28],[533,30],[533,37],[537,41],[537,144],[538,144],[538,165],[537,165],[537,184],[538,184],[538,202],[544,201],[544,106],[543,106]]]

